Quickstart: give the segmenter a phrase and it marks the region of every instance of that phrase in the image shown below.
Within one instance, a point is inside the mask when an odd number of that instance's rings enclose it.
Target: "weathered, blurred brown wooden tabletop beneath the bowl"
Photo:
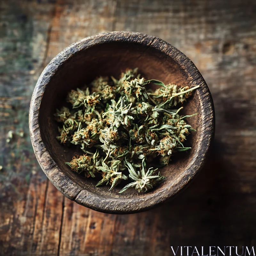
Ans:
[[[255,2],[2,0],[0,12],[1,255],[165,256],[177,245],[255,245]],[[215,104],[204,170],[171,202],[132,215],[65,198],[40,169],[28,132],[43,68],[69,44],[112,30],[157,36],[184,52]]]

